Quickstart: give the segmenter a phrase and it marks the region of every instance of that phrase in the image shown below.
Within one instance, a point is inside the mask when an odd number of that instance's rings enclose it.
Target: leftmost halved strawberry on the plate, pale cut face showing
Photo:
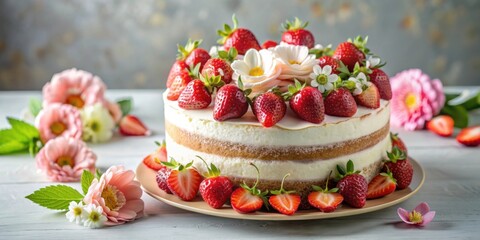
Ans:
[[[162,164],[171,169],[167,179],[170,191],[184,201],[193,200],[203,180],[202,175],[192,168],[193,161],[183,165],[171,159],[170,162]]]

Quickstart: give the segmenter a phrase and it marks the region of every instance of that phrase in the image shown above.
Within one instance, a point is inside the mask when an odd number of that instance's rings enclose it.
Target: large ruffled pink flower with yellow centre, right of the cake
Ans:
[[[391,123],[407,130],[422,129],[444,103],[442,82],[430,80],[420,69],[409,69],[391,79]]]

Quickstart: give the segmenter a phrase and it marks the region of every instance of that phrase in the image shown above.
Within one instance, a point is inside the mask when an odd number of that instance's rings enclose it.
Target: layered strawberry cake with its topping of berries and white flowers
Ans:
[[[390,137],[391,89],[384,65],[357,37],[315,45],[298,19],[282,41],[260,45],[248,29],[226,26],[220,46],[180,47],[164,93],[168,158],[199,172],[213,163],[235,185],[285,189],[303,197],[352,160],[370,182]]]

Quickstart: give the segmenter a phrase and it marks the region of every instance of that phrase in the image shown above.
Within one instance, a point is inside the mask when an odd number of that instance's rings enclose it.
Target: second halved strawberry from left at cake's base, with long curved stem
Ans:
[[[230,203],[233,209],[239,213],[251,213],[262,208],[263,205],[267,206],[266,195],[268,191],[262,192],[257,188],[259,182],[260,172],[257,166],[250,163],[257,170],[257,180],[253,187],[249,187],[245,183],[240,184],[240,187],[233,191],[230,196]]]

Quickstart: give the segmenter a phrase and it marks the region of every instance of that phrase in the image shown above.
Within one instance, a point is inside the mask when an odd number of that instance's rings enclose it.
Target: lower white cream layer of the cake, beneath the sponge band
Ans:
[[[382,141],[376,145],[359,151],[350,155],[329,159],[329,160],[315,160],[315,161],[271,161],[259,160],[239,157],[225,157],[214,154],[195,151],[188,147],[175,142],[168,134],[167,153],[168,157],[173,157],[181,163],[188,163],[194,160],[194,166],[205,173],[205,164],[195,156],[200,156],[207,163],[215,164],[221,171],[222,175],[232,177],[252,178],[256,177],[255,169],[249,166],[249,163],[254,163],[260,170],[260,178],[265,180],[281,180],[285,174],[290,173],[289,181],[315,181],[324,180],[328,177],[330,171],[336,173],[337,164],[345,166],[349,159],[355,164],[355,169],[361,170],[369,167],[371,164],[381,161],[386,158],[386,151],[391,148],[390,136],[387,135]],[[365,172],[362,171],[366,177]],[[370,181],[371,179],[367,179]]]

